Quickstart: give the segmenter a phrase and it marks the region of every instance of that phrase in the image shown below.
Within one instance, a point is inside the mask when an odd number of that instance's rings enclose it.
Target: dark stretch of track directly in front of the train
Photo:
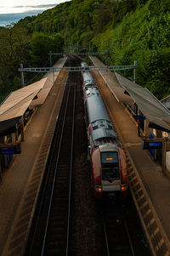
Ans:
[[[128,196],[125,202],[117,200],[102,204],[107,256],[150,255],[132,200]]]

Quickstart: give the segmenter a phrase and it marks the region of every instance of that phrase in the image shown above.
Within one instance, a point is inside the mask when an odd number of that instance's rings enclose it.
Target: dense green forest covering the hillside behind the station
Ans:
[[[20,63],[49,66],[49,51],[108,52],[108,65],[138,61],[137,82],[159,100],[170,94],[169,0],[72,0],[0,29],[1,101],[20,88]],[[101,55],[105,62],[105,55]],[[132,71],[122,71],[132,79]],[[38,77],[26,73],[26,84]],[[34,79],[33,79],[33,78]],[[33,81],[32,81],[33,80]]]

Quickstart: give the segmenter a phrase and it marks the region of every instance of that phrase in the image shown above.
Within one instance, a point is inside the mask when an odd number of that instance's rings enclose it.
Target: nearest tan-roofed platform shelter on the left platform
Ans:
[[[21,144],[24,140],[26,124],[37,107],[44,103],[53,87],[50,75],[49,73],[38,82],[15,90],[0,105],[0,179],[15,156],[11,152],[3,154],[3,149],[6,149],[7,145]]]

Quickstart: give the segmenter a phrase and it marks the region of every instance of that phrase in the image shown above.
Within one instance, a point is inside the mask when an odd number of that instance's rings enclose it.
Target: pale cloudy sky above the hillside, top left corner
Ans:
[[[70,0],[5,0],[0,3],[0,14],[19,14],[35,9],[53,8]]]

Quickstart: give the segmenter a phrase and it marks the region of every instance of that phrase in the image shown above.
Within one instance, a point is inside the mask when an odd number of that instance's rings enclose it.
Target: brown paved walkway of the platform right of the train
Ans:
[[[94,65],[103,65],[98,58],[91,57],[91,59],[94,61]],[[102,76],[105,80],[104,71]],[[114,87],[115,79],[116,77],[114,77],[111,72],[108,72],[110,88]],[[161,236],[166,242],[168,250],[170,250],[170,180],[161,173],[161,166],[153,162],[148,152],[142,149],[142,139],[138,137],[137,125],[133,119],[129,117],[129,114],[125,111],[122,104],[111,94],[111,90],[108,87],[103,85],[100,89],[102,90],[102,95],[104,94],[105,104],[111,111],[111,116],[114,117],[116,128],[121,134],[122,144],[139,174],[139,179],[144,185],[147,201],[153,213],[153,218],[147,225],[151,226],[153,224],[158,226],[158,228],[153,229],[153,233],[150,232],[150,240],[152,240],[154,236],[160,235],[161,232]],[[149,213],[150,211],[148,211],[148,214]],[[146,218],[146,216],[147,215],[145,215],[144,218]],[[144,221],[146,222],[145,219]],[[148,226],[146,228],[148,228]],[[164,249],[163,252],[163,248],[161,251],[161,245],[163,245],[161,236],[160,239],[159,237],[157,238],[156,255],[169,255],[170,251],[167,252],[166,249]]]

